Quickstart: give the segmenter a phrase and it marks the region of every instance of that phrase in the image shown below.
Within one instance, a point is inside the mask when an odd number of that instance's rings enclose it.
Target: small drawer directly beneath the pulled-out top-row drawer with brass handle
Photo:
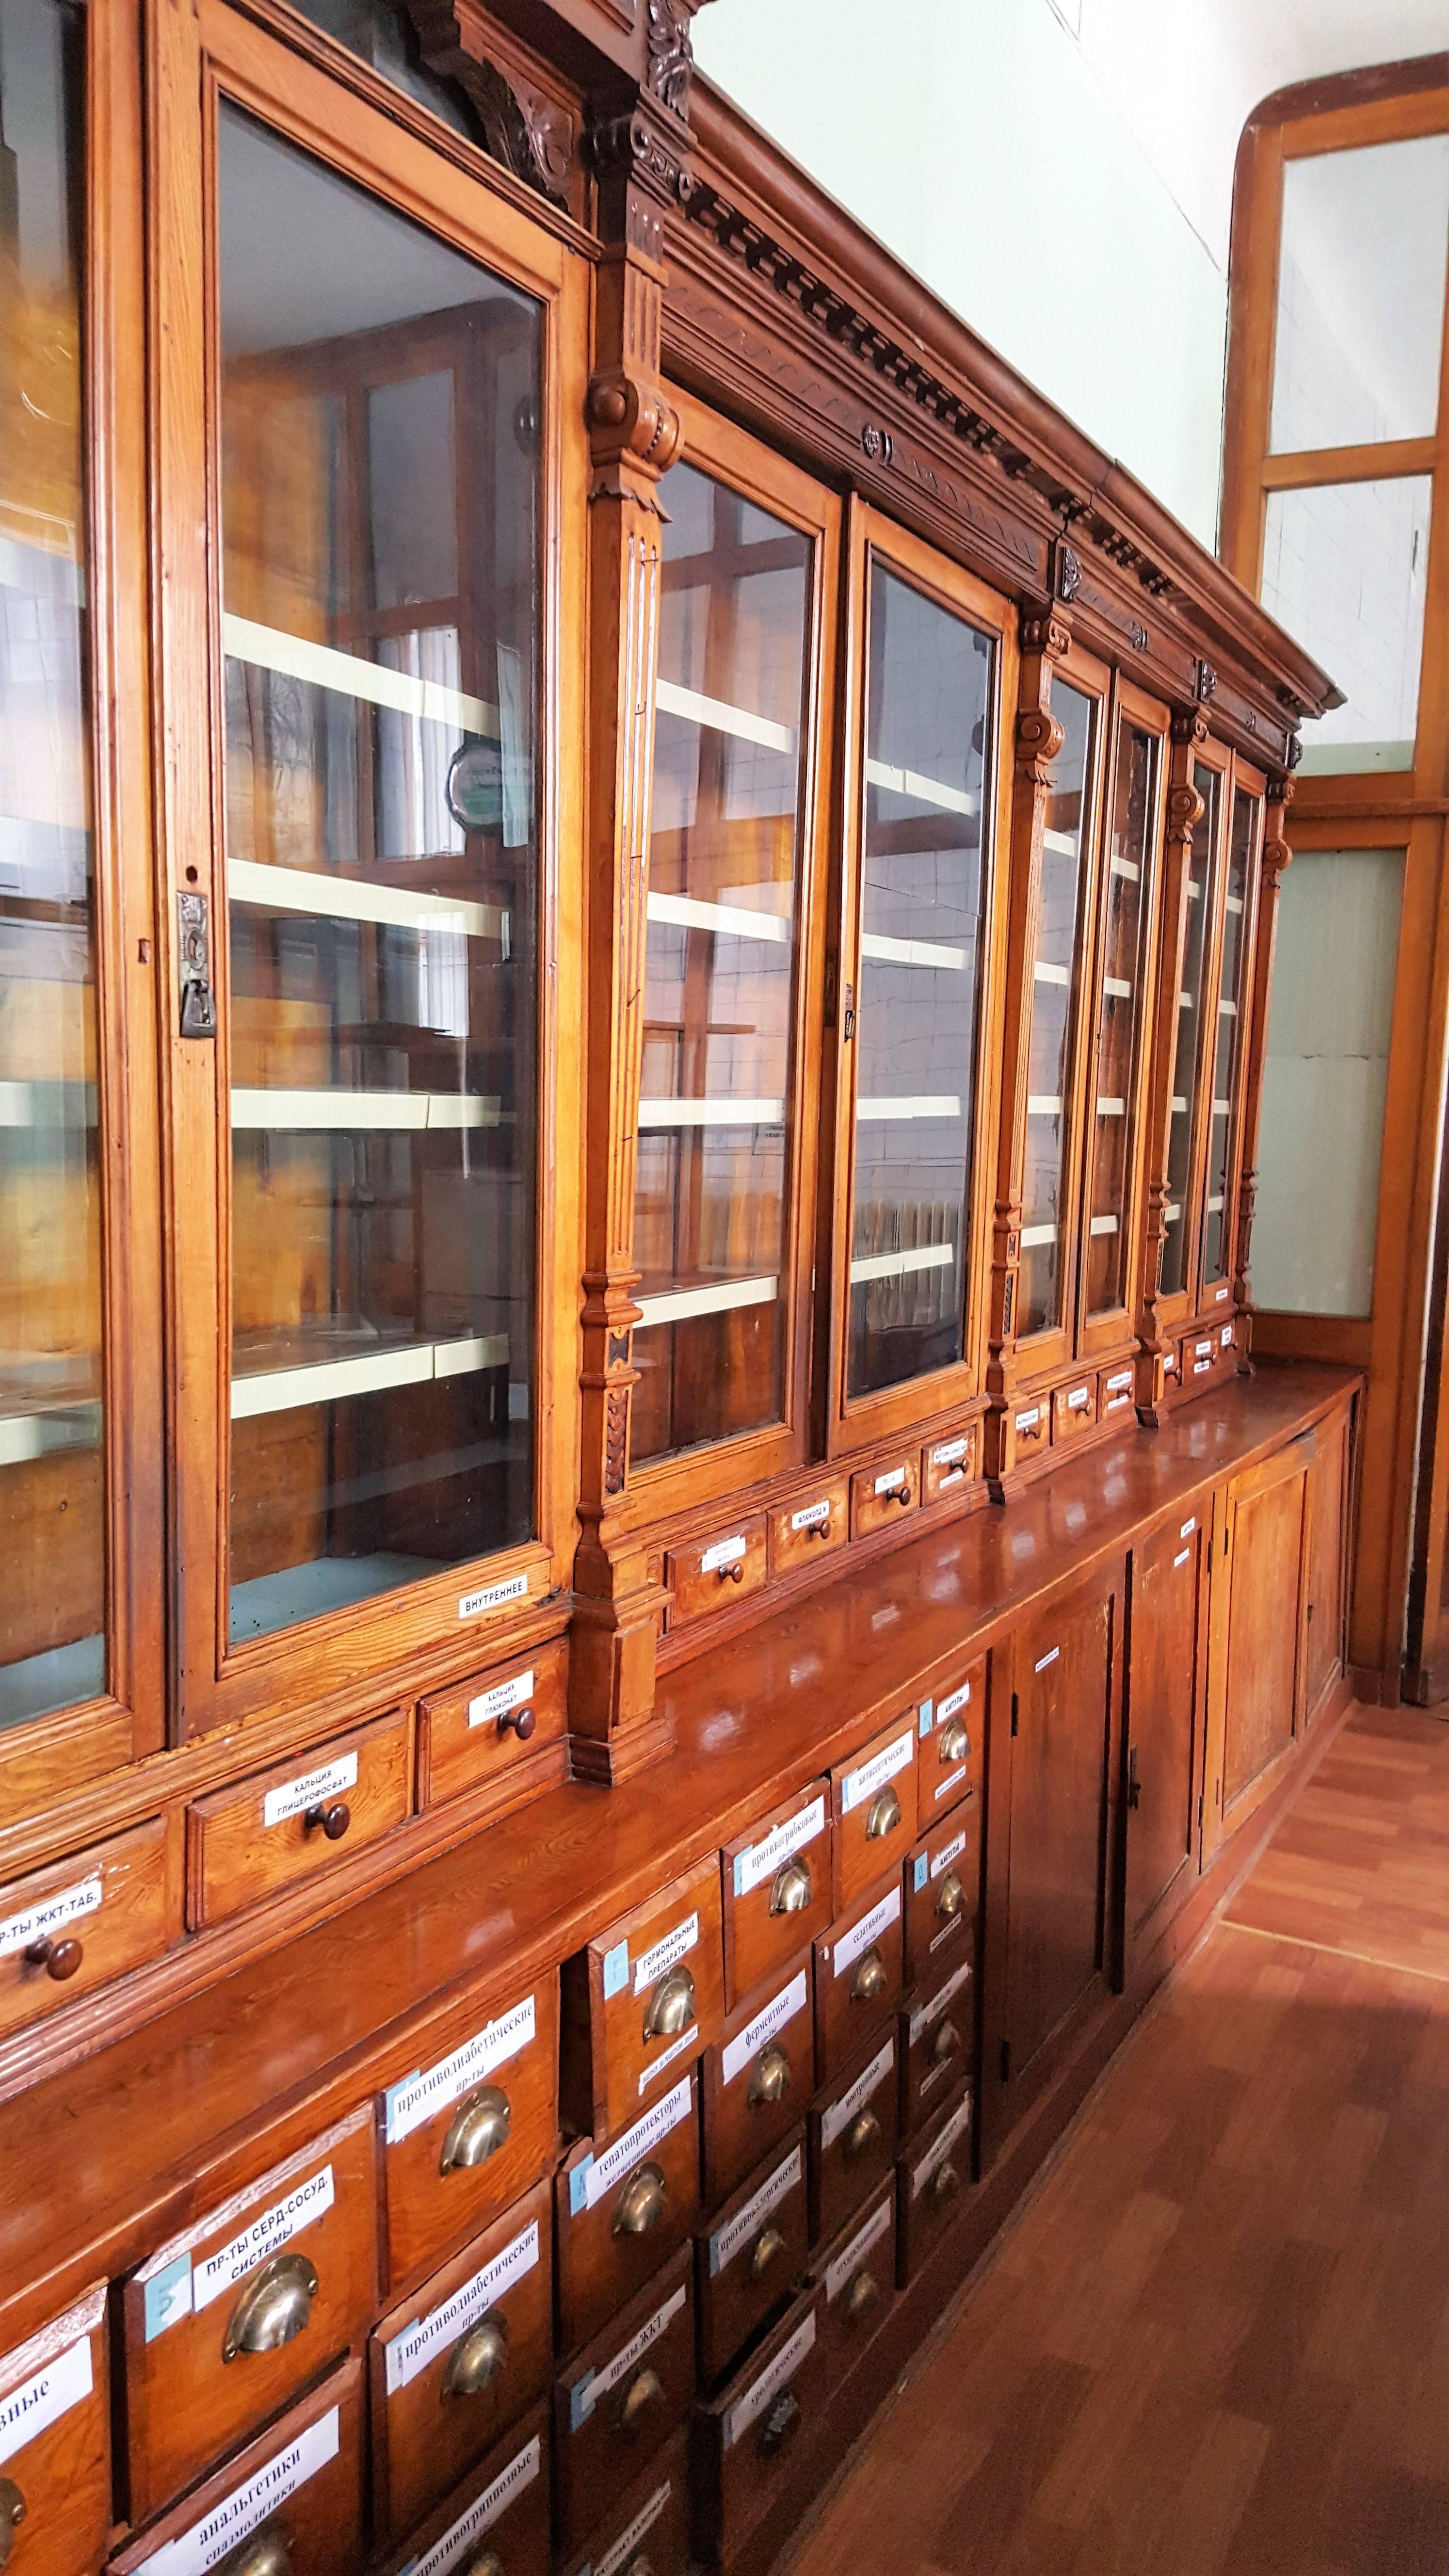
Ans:
[[[688,2074],[596,2156],[583,2138],[557,2179],[559,2352],[588,2344],[699,2218],[699,2076]]]

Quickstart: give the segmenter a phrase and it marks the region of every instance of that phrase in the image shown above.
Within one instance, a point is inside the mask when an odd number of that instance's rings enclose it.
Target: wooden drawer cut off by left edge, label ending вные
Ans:
[[[0,2360],[0,2514],[13,2576],[95,2576],[111,2540],[106,2282]],[[10,2488],[10,2494],[5,2494]],[[23,2522],[15,2530],[15,2504]]]

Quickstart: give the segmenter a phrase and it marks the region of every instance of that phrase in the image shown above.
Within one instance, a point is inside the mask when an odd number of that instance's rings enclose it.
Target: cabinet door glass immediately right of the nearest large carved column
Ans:
[[[681,464],[645,945],[634,1461],[779,1422],[812,544]]]

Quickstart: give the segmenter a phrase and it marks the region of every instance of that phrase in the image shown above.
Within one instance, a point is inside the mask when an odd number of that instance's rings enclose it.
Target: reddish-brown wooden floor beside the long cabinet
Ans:
[[[792,2576],[1446,2576],[1449,1726],[1354,1710]]]

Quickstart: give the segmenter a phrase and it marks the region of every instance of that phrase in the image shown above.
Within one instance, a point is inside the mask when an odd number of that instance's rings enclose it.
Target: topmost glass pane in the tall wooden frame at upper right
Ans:
[[[1449,134],[1284,162],[1274,453],[1434,435],[1446,247]]]

